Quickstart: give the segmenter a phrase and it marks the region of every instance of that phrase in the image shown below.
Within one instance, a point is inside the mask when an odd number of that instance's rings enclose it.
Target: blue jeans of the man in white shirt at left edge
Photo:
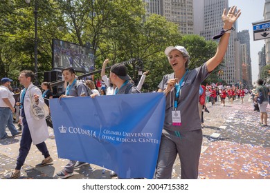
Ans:
[[[0,108],[0,139],[5,139],[8,135],[6,133],[6,126],[8,126],[8,130],[10,130],[12,136],[18,133],[13,124],[12,111],[10,108]]]

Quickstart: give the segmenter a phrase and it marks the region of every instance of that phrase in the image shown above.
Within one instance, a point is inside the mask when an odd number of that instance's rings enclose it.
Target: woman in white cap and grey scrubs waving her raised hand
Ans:
[[[233,6],[222,14],[224,28],[213,39],[220,38],[214,57],[199,68],[188,70],[190,56],[183,46],[169,46],[165,55],[174,72],[166,74],[159,91],[166,96],[165,121],[155,179],[171,179],[172,167],[179,154],[181,179],[197,179],[201,154],[202,131],[198,113],[199,86],[210,72],[222,62],[233,23],[240,17],[240,10]]]

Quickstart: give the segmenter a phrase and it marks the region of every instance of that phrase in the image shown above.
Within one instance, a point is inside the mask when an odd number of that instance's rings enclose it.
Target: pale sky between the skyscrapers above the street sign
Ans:
[[[253,41],[252,23],[264,19],[264,3],[265,0],[228,0],[228,6],[237,6],[242,12],[240,18],[237,20],[238,31],[249,30],[253,82],[258,79],[258,52],[262,50],[264,40]]]

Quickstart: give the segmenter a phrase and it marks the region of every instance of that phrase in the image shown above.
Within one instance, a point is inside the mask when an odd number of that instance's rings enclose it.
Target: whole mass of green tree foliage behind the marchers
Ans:
[[[150,70],[144,90],[155,90],[164,74],[172,72],[164,50],[183,45],[190,52],[190,69],[213,57],[217,45],[195,35],[180,34],[178,26],[157,14],[145,14],[138,0],[22,0],[0,2],[0,77],[17,79],[19,71],[34,70],[34,8],[37,3],[39,72],[52,68],[52,39],[91,45],[96,69],[139,58]],[[138,80],[136,65],[127,66]],[[39,82],[42,80],[39,74]],[[15,81],[16,84],[16,81]],[[18,83],[17,83],[18,84]]]

